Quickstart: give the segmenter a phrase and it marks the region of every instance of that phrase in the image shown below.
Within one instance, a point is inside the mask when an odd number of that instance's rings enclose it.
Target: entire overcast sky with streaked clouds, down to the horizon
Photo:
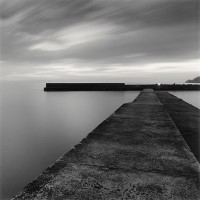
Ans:
[[[199,0],[0,0],[1,79],[174,83],[199,73]]]

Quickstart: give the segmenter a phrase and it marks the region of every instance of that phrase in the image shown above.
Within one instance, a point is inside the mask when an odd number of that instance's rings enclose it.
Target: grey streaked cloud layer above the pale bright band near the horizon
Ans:
[[[74,59],[98,71],[198,59],[198,0],[4,0],[0,7],[1,58],[12,67]]]

